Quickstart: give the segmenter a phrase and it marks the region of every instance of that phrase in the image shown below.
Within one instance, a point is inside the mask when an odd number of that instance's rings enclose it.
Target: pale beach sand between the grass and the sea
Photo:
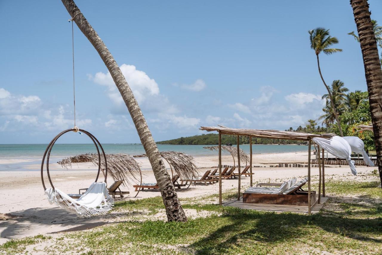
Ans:
[[[312,156],[313,157],[313,156]],[[150,168],[147,159],[139,159],[142,169]],[[207,169],[217,166],[217,157],[198,157],[196,158],[197,166],[203,173]],[[266,167],[253,168],[254,184],[257,182],[282,181],[288,178],[302,178],[307,175],[307,168],[271,168],[267,164],[281,162],[307,162],[306,152],[293,152],[282,154],[254,154],[254,165],[262,165]],[[2,162],[0,162],[2,163]],[[225,155],[222,160],[223,164],[232,165],[232,157]],[[28,165],[29,169],[39,169],[40,165]],[[73,166],[71,170],[61,170],[57,164],[52,164],[51,177],[55,187],[67,193],[78,193],[79,188],[87,188],[95,179],[95,168],[88,163]],[[370,173],[372,167],[357,167],[359,173]],[[143,171],[143,182],[156,182],[151,170]],[[318,168],[311,170],[312,180],[318,175]],[[350,168],[342,167],[326,167],[326,179],[335,178],[341,180],[357,180],[350,172]],[[99,180],[102,180],[100,177]],[[46,185],[49,187],[49,181],[46,179]],[[113,180],[108,180],[108,184]],[[159,196],[159,191],[141,191],[137,198],[133,184],[122,187],[123,191],[130,191],[130,195],[125,198],[116,200],[140,199],[152,196]],[[242,178],[241,185],[249,186],[249,177]],[[224,180],[222,189],[230,190],[238,187],[238,180]],[[219,193],[219,185],[191,185],[188,189],[182,188],[177,190],[178,196],[197,197]],[[189,212],[193,213],[193,212]],[[18,239],[26,236],[37,234],[48,234],[62,231],[72,231],[87,229],[94,226],[108,224],[110,222],[124,221],[129,217],[126,214],[112,212],[105,216],[97,216],[91,218],[78,217],[57,206],[50,205],[44,195],[41,185],[39,171],[10,171],[0,172],[0,214],[6,214],[6,220],[0,220],[0,244],[10,239]]]

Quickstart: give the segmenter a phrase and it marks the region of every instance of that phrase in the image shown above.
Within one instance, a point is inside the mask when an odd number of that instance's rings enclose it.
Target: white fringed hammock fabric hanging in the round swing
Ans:
[[[66,211],[88,217],[104,214],[114,205],[114,200],[109,196],[104,182],[92,183],[78,199],[71,198],[58,189],[53,191],[52,188],[46,189],[45,194],[50,204],[56,204]]]

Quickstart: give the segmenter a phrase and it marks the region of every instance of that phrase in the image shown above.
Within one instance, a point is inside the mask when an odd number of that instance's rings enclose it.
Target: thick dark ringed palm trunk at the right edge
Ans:
[[[367,0],[350,0],[365,67],[379,178],[382,183],[382,71]]]

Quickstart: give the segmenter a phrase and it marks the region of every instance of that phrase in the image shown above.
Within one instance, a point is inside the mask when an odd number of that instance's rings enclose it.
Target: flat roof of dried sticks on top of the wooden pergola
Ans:
[[[304,132],[296,131],[278,131],[278,130],[266,130],[266,129],[240,129],[240,128],[230,128],[223,127],[200,127],[201,130],[206,131],[218,131],[221,134],[230,134],[236,136],[253,136],[253,137],[264,137],[272,139],[287,139],[287,140],[303,140],[308,141],[314,137],[321,137],[325,139],[330,139],[335,136],[334,133],[329,134],[309,134]]]

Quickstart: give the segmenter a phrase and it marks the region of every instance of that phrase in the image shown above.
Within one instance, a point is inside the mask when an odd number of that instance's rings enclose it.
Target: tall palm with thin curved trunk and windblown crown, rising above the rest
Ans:
[[[334,116],[337,121],[338,130],[340,131],[341,136],[343,136],[341,124],[338,119],[338,113],[333,102],[332,93],[330,93],[330,89],[328,85],[326,85],[325,80],[322,77],[321,69],[320,69],[320,60],[318,57],[318,55],[321,52],[324,52],[324,54],[327,54],[327,55],[331,55],[335,52],[341,52],[342,49],[330,48],[330,46],[338,43],[338,39],[330,36],[329,29],[315,28],[315,29],[309,30],[308,33],[309,33],[311,48],[314,50],[317,56],[318,72],[320,73],[321,80],[324,83],[326,90],[328,91],[329,99],[333,107]]]

